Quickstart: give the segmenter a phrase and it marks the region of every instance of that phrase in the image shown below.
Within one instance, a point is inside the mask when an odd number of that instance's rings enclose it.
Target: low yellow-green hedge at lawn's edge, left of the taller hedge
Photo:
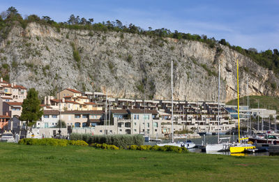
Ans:
[[[49,145],[49,146],[68,146],[68,145],[88,146],[88,144],[83,140],[70,141],[67,139],[54,139],[54,138],[43,138],[43,139],[24,138],[24,139],[20,139],[18,144]]]

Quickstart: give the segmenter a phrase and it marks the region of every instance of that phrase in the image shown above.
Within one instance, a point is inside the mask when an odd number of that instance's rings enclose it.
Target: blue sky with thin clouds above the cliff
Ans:
[[[279,49],[278,0],[0,0],[0,11],[10,6],[23,17],[48,15],[56,22],[66,22],[71,14],[93,17],[94,22],[117,19],[143,29],[151,26],[225,38],[246,49]]]

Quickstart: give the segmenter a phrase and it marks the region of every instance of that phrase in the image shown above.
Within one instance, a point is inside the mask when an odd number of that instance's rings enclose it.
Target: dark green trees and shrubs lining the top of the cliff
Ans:
[[[279,52],[277,49],[266,50],[264,52],[257,52],[255,48],[250,48],[248,50],[243,49],[239,46],[230,45],[227,43],[225,39],[221,39],[220,41],[215,38],[207,38],[207,36],[202,35],[199,36],[197,34],[190,33],[181,33],[179,31],[170,31],[169,29],[155,29],[153,30],[149,27],[148,30],[142,29],[140,26],[135,26],[135,24],[123,25],[120,20],[107,21],[107,22],[98,22],[93,23],[93,18],[86,18],[75,15],[70,15],[67,22],[54,22],[50,17],[43,16],[38,17],[38,15],[29,15],[25,19],[22,18],[22,15],[17,12],[16,8],[13,6],[8,8],[8,10],[3,11],[0,15],[0,36],[1,38],[7,38],[8,32],[10,31],[13,24],[20,24],[23,28],[27,26],[29,22],[37,22],[40,24],[47,24],[56,28],[56,31],[60,31],[60,29],[86,29],[89,30],[89,36],[92,35],[92,31],[117,31],[124,33],[137,33],[145,36],[156,36],[161,40],[164,38],[176,38],[176,39],[185,39],[185,40],[195,40],[202,43],[206,43],[209,47],[218,47],[218,43],[222,45],[226,45],[232,50],[236,50],[237,52],[250,57],[253,61],[259,64],[259,66],[263,66],[264,68],[269,68],[269,70],[273,70],[274,73],[279,73]],[[123,35],[122,35],[123,37]],[[166,41],[166,40],[164,40]],[[222,51],[219,48],[219,51]],[[79,59],[79,56],[75,50],[73,50],[73,54],[75,56],[75,60]],[[78,62],[78,61],[77,61]]]

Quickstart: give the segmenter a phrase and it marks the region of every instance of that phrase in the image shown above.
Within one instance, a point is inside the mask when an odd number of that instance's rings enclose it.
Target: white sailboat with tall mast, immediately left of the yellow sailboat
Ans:
[[[220,64],[218,68],[218,144],[206,144],[205,150],[207,153],[210,152],[220,152],[220,151],[229,151],[229,146],[231,145],[229,142],[223,142],[222,139],[230,139],[230,137],[224,137],[220,138],[220,130],[219,130],[219,124],[220,124],[220,116],[219,116],[219,110],[220,110]]]

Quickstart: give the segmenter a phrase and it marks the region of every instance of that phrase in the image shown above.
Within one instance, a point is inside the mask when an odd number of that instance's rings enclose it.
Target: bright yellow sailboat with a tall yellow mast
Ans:
[[[237,114],[238,114],[238,120],[239,120],[239,59],[236,61],[236,74],[237,74]],[[252,144],[245,144],[241,143],[241,140],[246,140],[248,138],[240,138],[240,121],[239,121],[239,143],[236,144],[236,146],[229,147],[229,151],[231,153],[242,153],[249,149],[256,149],[255,146]]]

